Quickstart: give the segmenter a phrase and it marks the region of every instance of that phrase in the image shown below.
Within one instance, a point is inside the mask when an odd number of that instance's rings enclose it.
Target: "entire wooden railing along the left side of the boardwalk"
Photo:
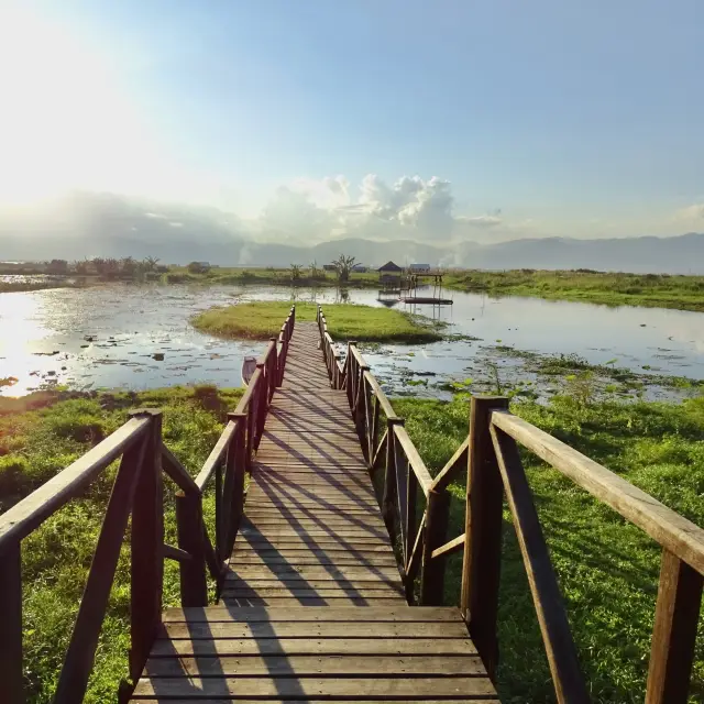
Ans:
[[[0,516],[0,685],[2,702],[24,702],[22,654],[22,540],[121,459],[108,502],[88,580],[78,608],[54,702],[82,700],[106,617],[120,550],[130,517],[130,678],[136,682],[161,624],[163,563],[176,560],[182,606],[206,606],[206,568],[220,588],[223,563],[232,550],[244,508],[244,474],[264,431],[266,414],[280,386],[296,309],[278,338],[266,346],[237,410],[194,480],[162,441],[162,414],[131,414],[111,436]],[[162,471],[178,487],[175,495],[178,547],[164,542]],[[202,496],[215,477],[215,547],[202,515]]]

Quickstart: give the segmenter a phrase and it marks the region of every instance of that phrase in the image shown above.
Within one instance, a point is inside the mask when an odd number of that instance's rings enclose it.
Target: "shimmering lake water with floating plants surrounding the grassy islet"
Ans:
[[[298,300],[340,300],[334,289],[297,289]],[[657,308],[606,308],[532,298],[491,299],[449,294],[443,308],[416,311],[449,323],[449,332],[480,340],[382,345],[365,353],[392,391],[409,378],[472,376],[498,345],[538,353],[576,353],[591,363],[704,380],[704,315]],[[213,383],[239,386],[242,360],[261,342],[219,340],[194,330],[190,317],[239,300],[292,300],[277,287],[193,287],[111,284],[0,295],[0,377],[6,395],[46,384],[76,389]],[[375,290],[349,292],[351,302],[382,305]],[[410,310],[396,304],[402,310]],[[155,356],[164,355],[163,361]]]

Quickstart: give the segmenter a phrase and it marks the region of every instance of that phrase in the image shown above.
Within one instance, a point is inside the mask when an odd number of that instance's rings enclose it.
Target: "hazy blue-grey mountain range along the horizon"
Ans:
[[[209,233],[210,235],[212,233]],[[484,270],[590,268],[634,273],[704,274],[704,233],[679,237],[576,240],[570,238],[524,239],[495,244],[463,242],[437,245],[413,240],[377,242],[340,239],[314,245],[256,242],[230,233],[199,237],[189,228],[168,232],[168,238],[135,237],[122,232],[95,237],[82,232],[33,233],[18,237],[0,231],[0,260],[81,260],[91,256],[157,256],[162,262],[186,264],[208,261],[221,266],[319,265],[349,254],[370,266],[388,260],[397,264],[428,263],[431,266]]]

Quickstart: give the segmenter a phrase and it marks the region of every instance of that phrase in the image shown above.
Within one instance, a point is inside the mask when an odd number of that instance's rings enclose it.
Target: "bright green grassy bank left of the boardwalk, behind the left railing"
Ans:
[[[61,472],[120,427],[135,407],[164,409],[167,446],[195,475],[215,446],[240,391],[169,388],[140,394],[37,394],[0,406],[0,512]],[[29,701],[52,700],[105,515],[108,470],[22,543],[24,667]],[[176,543],[173,491],[166,482],[167,542]],[[205,512],[213,525],[212,505]],[[129,543],[125,538],[86,702],[114,702],[127,674]],[[178,571],[165,565],[164,604],[178,605]]]

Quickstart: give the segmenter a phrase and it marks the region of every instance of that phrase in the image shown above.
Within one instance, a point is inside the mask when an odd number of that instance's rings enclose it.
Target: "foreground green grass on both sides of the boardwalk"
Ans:
[[[144,393],[43,393],[0,402],[0,510],[54,476],[116,430],[134,407],[164,409],[168,447],[191,473],[207,458],[239,391],[210,386]],[[396,413],[431,472],[464,439],[466,397],[394,399]],[[515,403],[514,413],[602,462],[674,510],[704,526],[704,398],[683,404],[585,403],[560,396],[549,405]],[[526,468],[594,702],[641,702],[654,615],[660,549],[642,531],[592,499],[554,470],[525,455]],[[23,542],[25,675],[31,702],[50,702],[100,522],[112,471],[94,482]],[[463,530],[464,477],[451,486],[450,537]],[[167,541],[175,540],[172,491]],[[212,504],[206,502],[212,525]],[[501,588],[502,701],[553,702],[522,561],[505,512]],[[127,543],[125,543],[127,547]],[[449,560],[446,602],[459,601],[461,557]],[[164,604],[178,603],[178,575],[167,562]],[[114,701],[127,673],[129,552],[123,551],[87,701]],[[692,702],[704,701],[704,632]]]

